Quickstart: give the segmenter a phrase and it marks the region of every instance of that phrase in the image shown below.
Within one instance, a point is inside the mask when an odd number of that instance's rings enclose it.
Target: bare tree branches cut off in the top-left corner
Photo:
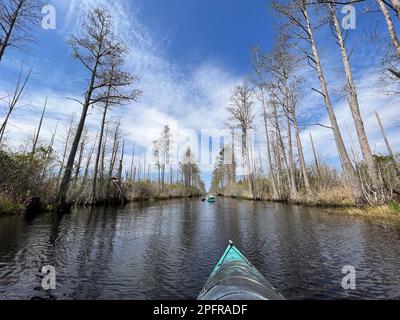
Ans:
[[[22,48],[32,41],[32,27],[39,25],[41,0],[2,0],[0,3],[0,62],[6,49]]]

